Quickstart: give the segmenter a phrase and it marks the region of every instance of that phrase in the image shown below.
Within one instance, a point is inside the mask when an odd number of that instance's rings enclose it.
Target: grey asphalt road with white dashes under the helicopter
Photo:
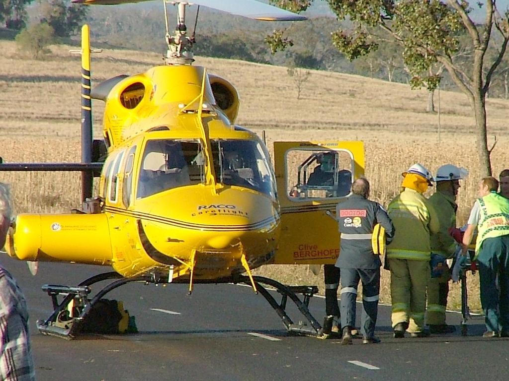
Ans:
[[[190,296],[183,284],[127,284],[107,297],[124,301],[136,316],[138,334],[72,341],[45,336],[35,328],[35,321],[51,312],[41,285],[76,285],[109,269],[41,263],[34,277],[23,262],[5,255],[0,262],[17,278],[29,303],[39,381],[508,378],[508,340],[483,339],[482,320],[470,321],[468,337],[460,336],[458,329],[447,336],[394,339],[390,308],[380,306],[377,335],[382,343],[362,345],[354,340],[342,346],[335,339],[287,335],[261,295],[232,284],[196,284]],[[312,298],[310,311],[319,321],[324,308],[322,298]],[[290,314],[300,320],[296,311]],[[459,324],[460,317],[449,313],[448,322]]]

